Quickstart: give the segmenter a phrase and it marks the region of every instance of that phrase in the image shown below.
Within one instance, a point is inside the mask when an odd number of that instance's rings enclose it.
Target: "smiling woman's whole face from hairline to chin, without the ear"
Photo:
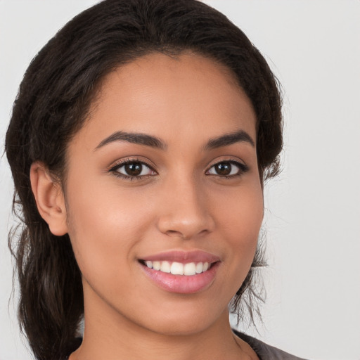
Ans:
[[[229,72],[191,53],[105,77],[67,153],[86,326],[190,334],[227,318],[262,224],[255,122]]]

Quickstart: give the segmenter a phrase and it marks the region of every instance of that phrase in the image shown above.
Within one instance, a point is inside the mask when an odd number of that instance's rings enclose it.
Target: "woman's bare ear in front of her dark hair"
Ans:
[[[49,169],[42,162],[33,162],[30,167],[32,193],[37,202],[37,210],[49,225],[53,235],[68,233],[66,207],[63,190],[55,181]]]

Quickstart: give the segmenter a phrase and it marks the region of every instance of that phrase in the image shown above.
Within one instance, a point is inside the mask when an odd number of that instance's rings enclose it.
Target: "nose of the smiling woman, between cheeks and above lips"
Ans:
[[[214,230],[214,218],[201,184],[195,184],[191,179],[169,181],[162,194],[159,231],[185,240]]]

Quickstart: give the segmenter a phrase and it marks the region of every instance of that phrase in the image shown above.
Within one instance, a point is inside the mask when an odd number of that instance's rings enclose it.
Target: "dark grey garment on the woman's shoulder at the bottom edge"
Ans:
[[[257,353],[257,356],[259,356],[260,360],[304,360],[300,357],[288,354],[287,352],[283,352],[281,349],[267,345],[264,342],[252,338],[249,335],[239,333],[236,330],[233,330],[233,333],[235,333],[235,335],[240,339],[248,342],[250,347],[252,347],[252,349],[254,349],[254,351]]]

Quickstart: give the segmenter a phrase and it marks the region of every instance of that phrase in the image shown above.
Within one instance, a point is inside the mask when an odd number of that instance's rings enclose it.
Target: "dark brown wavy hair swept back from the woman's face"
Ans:
[[[13,208],[22,221],[9,236],[20,283],[18,314],[36,359],[65,359],[79,346],[84,304],[70,239],[53,236],[37,211],[30,166],[44,162],[61,181],[67,145],[84,124],[101,79],[148,53],[174,56],[182,51],[212,58],[233,72],[257,115],[261,179],[278,172],[282,122],[276,79],[255,46],[224,15],[195,0],[105,0],[73,18],[32,60],[6,134]],[[257,251],[233,311],[248,299],[252,314],[252,277],[262,264]]]

